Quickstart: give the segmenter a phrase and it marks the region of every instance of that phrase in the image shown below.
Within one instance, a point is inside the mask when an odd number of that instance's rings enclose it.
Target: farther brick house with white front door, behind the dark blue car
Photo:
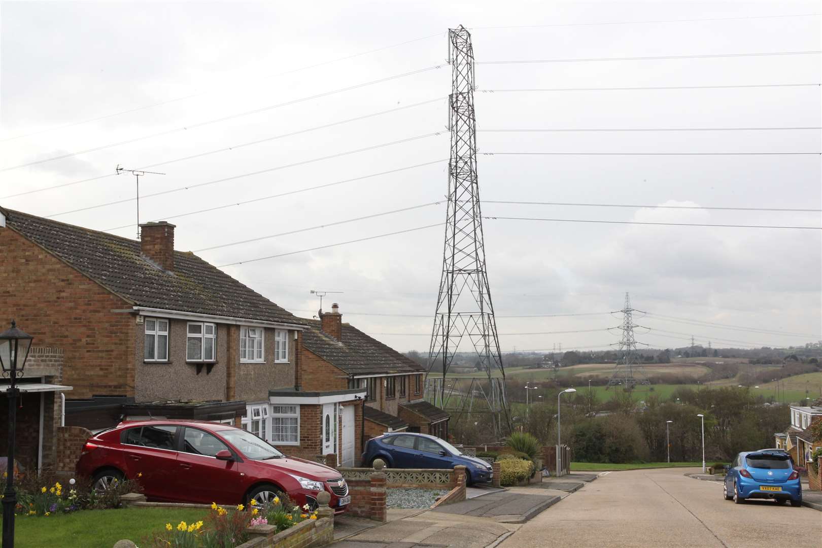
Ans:
[[[318,412],[318,404],[309,398],[335,398],[339,412],[347,416],[339,418],[339,435],[335,435],[335,426],[321,432],[322,447],[304,432],[300,447],[293,451],[306,456],[334,453],[343,466],[356,466],[363,441],[385,432],[415,431],[447,438],[448,413],[423,400],[423,366],[344,324],[336,303],[330,312],[320,313],[320,320],[304,321],[295,391],[272,392],[271,402],[287,398],[296,403],[304,394],[302,417],[305,412]],[[346,410],[361,399],[365,403],[362,415]],[[323,425],[337,424],[330,401],[320,413],[325,417]],[[315,422],[312,419],[311,424]]]

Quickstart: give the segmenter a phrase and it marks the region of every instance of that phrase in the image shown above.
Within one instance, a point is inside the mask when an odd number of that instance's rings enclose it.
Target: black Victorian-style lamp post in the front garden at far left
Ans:
[[[14,548],[14,508],[17,505],[17,494],[14,490],[14,437],[17,411],[17,394],[20,389],[16,386],[17,375],[23,374],[25,360],[29,357],[29,348],[34,337],[26,334],[12,320],[11,329],[0,333],[0,366],[2,375],[8,376],[9,385],[6,390],[8,398],[8,454],[6,458],[6,490],[2,496],[2,546]],[[21,358],[22,354],[22,359]],[[20,362],[20,368],[17,364]]]

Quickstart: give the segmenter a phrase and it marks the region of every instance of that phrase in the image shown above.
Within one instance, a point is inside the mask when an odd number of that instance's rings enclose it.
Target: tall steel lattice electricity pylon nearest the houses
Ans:
[[[494,306],[485,267],[483,221],[477,178],[477,128],[474,117],[474,62],[471,35],[462,25],[448,30],[448,62],[451,65],[449,97],[450,161],[448,165],[448,212],[442,256],[440,292],[428,352],[426,396],[440,408],[476,412],[474,395],[481,394],[491,413],[494,433],[502,433],[508,421],[505,370],[496,334]],[[446,380],[459,344],[467,337],[478,357],[484,380]],[[442,368],[441,377],[432,370]],[[459,415],[455,417],[459,420]]]

